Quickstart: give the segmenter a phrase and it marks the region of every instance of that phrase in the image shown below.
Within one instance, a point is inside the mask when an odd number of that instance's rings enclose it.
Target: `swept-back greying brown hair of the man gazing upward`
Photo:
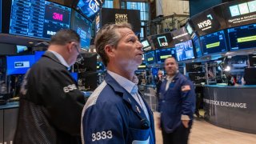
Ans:
[[[102,27],[101,30],[98,31],[95,37],[95,48],[97,53],[102,58],[102,62],[105,66],[110,61],[108,56],[105,52],[105,46],[110,45],[116,48],[118,46],[118,42],[121,39],[121,34],[118,32],[117,29],[121,28],[129,28],[132,29],[132,26],[129,23],[122,23],[122,24],[106,24]]]

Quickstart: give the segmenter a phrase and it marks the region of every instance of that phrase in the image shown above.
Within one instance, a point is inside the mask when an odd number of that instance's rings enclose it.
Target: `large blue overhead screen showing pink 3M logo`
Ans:
[[[58,30],[70,29],[70,14],[70,8],[46,0],[13,0],[9,32],[50,39]]]

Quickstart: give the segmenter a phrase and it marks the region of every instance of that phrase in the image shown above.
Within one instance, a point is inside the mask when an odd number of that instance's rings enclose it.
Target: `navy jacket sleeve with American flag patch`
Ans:
[[[182,120],[190,120],[193,118],[195,108],[194,85],[189,79],[184,78],[181,83],[182,96]]]

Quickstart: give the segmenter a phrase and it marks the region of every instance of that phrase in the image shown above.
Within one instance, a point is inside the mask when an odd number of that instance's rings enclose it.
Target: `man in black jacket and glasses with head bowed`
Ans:
[[[42,58],[26,72],[14,143],[81,143],[86,99],[69,72],[79,51],[79,35],[74,30],[60,30]]]

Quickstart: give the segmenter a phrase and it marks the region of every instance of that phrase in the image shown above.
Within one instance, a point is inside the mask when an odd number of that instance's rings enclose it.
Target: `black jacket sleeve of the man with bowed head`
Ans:
[[[80,135],[85,98],[67,70],[51,70],[41,83],[42,105],[49,122],[67,134]]]

